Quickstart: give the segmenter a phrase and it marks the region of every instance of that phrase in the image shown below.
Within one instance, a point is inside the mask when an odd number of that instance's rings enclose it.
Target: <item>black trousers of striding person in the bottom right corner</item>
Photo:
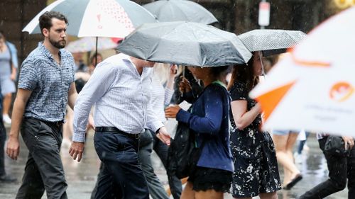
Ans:
[[[318,140],[320,149],[324,153],[327,137]],[[348,184],[348,198],[355,198],[355,148],[351,149],[350,157],[337,157],[324,154],[327,160],[329,178],[300,196],[300,199],[325,198],[332,193],[342,191]]]

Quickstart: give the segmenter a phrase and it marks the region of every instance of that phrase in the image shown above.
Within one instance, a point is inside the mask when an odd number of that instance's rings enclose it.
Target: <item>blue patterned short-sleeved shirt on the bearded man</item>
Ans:
[[[18,89],[32,91],[25,108],[26,118],[49,122],[64,120],[70,85],[74,82],[74,59],[61,49],[60,64],[42,42],[23,61]]]

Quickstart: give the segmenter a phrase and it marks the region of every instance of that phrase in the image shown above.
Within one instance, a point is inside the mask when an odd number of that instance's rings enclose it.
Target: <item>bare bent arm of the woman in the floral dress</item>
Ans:
[[[253,123],[253,120],[260,114],[261,107],[257,103],[256,106],[247,111],[246,100],[236,100],[231,102],[231,112],[233,113],[234,123],[239,130]]]

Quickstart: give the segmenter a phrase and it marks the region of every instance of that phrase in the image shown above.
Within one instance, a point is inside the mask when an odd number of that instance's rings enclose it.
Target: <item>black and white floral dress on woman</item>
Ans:
[[[230,93],[232,101],[246,100],[248,111],[256,105],[256,101],[248,96],[246,84],[234,84]],[[261,115],[258,115],[251,125],[239,130],[231,114],[234,198],[254,197],[259,193],[272,193],[281,188],[273,140],[268,132],[260,130],[260,126]]]

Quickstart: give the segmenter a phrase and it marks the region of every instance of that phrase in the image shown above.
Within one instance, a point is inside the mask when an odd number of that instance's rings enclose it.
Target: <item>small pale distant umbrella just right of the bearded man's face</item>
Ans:
[[[117,47],[117,43],[110,38],[98,38],[97,50],[107,50]],[[89,52],[96,50],[96,38],[81,38],[70,42],[65,47],[69,52]]]

